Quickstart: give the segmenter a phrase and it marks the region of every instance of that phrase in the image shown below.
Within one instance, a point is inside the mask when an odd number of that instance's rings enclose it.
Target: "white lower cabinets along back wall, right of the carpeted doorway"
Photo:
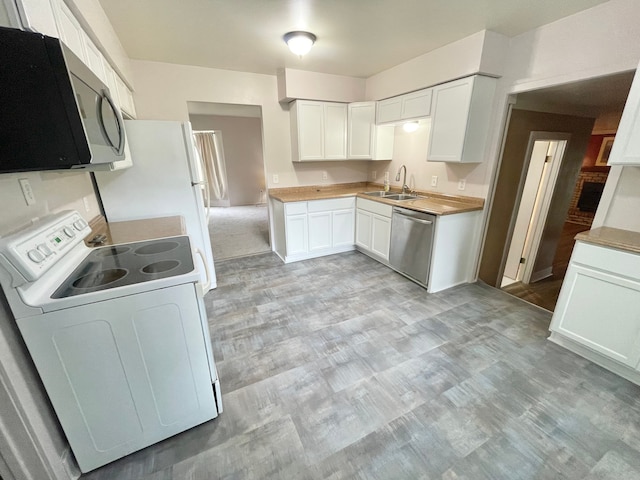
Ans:
[[[271,202],[274,247],[285,263],[353,250],[355,198]]]

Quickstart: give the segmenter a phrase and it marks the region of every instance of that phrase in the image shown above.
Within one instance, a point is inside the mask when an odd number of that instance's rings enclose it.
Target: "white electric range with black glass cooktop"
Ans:
[[[222,412],[189,237],[89,249],[77,212],[0,239],[0,284],[87,472]]]

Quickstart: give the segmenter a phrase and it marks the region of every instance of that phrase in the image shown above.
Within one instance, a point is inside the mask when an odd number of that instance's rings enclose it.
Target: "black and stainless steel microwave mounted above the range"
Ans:
[[[0,173],[124,158],[124,124],[106,85],[59,39],[0,28]]]

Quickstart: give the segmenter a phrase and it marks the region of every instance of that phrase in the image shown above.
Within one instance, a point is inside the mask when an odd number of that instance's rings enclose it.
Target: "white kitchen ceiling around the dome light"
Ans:
[[[515,36],[606,0],[99,0],[134,59],[369,77],[488,29]],[[303,59],[282,36],[308,30]]]

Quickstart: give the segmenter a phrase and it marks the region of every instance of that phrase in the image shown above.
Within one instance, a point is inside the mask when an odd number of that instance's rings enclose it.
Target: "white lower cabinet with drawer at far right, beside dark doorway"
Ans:
[[[640,383],[640,255],[578,241],[550,340]]]

